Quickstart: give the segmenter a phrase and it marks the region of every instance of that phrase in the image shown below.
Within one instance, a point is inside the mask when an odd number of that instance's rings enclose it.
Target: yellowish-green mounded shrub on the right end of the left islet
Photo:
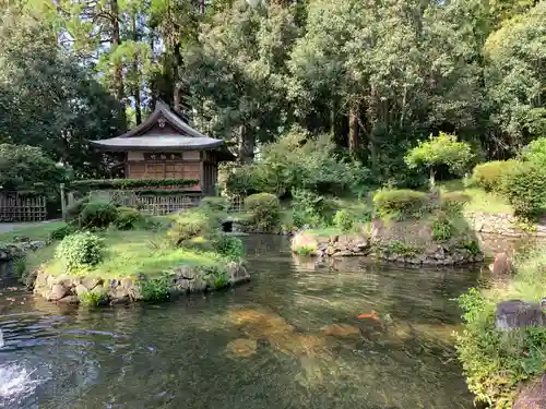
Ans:
[[[175,245],[181,245],[185,241],[199,236],[207,237],[215,229],[215,221],[209,215],[200,210],[182,212],[175,219],[167,237]]]

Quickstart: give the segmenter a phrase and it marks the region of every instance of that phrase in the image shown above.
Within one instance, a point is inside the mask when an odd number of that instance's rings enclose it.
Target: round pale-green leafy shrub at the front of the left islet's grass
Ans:
[[[70,234],[59,243],[55,255],[69,272],[94,267],[103,261],[104,241],[88,231]]]

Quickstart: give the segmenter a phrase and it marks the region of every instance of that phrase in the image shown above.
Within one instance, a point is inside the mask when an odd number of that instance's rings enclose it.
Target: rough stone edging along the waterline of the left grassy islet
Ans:
[[[250,280],[245,266],[229,263],[226,266],[227,284],[235,286]],[[40,269],[33,274],[34,293],[66,304],[78,304],[86,292],[95,292],[103,297],[102,304],[123,304],[142,300],[141,281],[149,280],[145,275],[134,278],[103,279],[99,277],[51,276]],[[179,296],[189,292],[204,292],[213,289],[211,279],[203,277],[202,272],[194,267],[182,266],[175,269],[170,282],[170,294]]]

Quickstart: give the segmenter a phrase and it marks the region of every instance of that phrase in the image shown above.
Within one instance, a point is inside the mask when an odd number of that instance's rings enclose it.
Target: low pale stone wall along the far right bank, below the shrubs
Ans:
[[[546,226],[538,224],[531,227],[523,226],[513,215],[466,213],[464,215],[470,227],[480,233],[492,233],[505,237],[546,237]]]

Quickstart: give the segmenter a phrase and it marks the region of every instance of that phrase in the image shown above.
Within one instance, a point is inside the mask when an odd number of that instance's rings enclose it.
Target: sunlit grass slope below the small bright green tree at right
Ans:
[[[450,180],[438,184],[442,192],[463,192],[471,197],[464,207],[465,212],[513,214],[512,206],[505,197],[487,193],[479,188],[465,188],[462,180]]]

